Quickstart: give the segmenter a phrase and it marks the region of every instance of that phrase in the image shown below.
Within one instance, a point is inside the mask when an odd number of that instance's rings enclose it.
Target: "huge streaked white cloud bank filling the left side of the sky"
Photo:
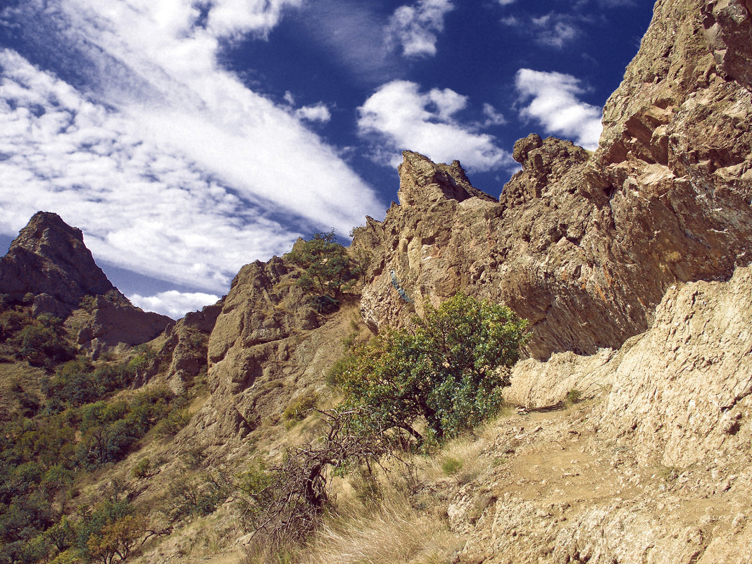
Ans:
[[[221,40],[264,35],[300,4],[215,0],[202,15],[183,0],[26,0],[5,11],[30,49],[53,41],[51,58],[77,58],[64,69],[74,87],[0,51],[0,231],[57,211],[98,259],[223,293],[241,265],[300,232],[348,232],[381,212],[302,122],[325,120],[326,106],[291,112],[217,62]]]

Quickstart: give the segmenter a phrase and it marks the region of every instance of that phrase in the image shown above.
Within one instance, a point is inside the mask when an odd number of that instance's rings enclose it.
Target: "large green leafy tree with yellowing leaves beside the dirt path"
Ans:
[[[363,432],[402,429],[422,444],[423,421],[435,441],[456,436],[501,407],[526,327],[509,308],[462,293],[428,306],[411,328],[379,335],[340,365],[344,408],[359,410]]]

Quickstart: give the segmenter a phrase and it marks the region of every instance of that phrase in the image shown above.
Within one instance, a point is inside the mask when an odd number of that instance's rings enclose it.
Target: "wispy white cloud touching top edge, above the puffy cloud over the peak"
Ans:
[[[453,9],[450,0],[419,0],[400,6],[390,18],[387,35],[402,46],[406,57],[435,55],[436,35],[444,30],[444,16]]]

